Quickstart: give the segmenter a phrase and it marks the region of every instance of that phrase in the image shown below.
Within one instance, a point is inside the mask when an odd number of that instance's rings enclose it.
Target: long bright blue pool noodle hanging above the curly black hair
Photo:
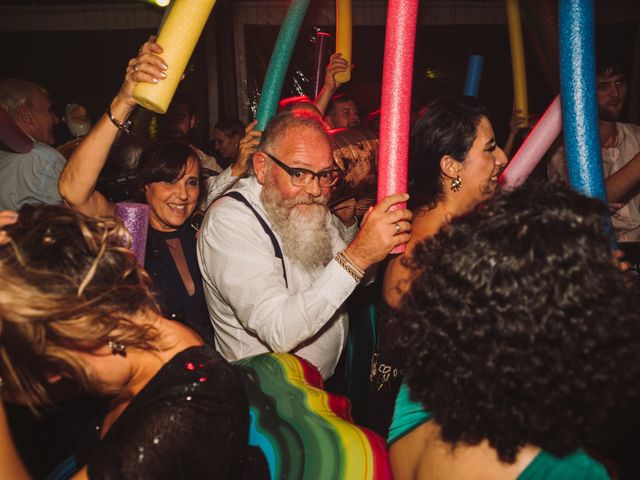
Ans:
[[[569,182],[607,201],[596,103],[593,0],[560,0],[560,88]]]

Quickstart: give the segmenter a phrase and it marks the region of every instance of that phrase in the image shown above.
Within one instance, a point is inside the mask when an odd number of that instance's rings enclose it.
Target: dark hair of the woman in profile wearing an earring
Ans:
[[[450,155],[463,162],[484,116],[484,107],[472,97],[438,98],[420,113],[410,139],[410,209],[433,208],[442,200],[440,159]]]

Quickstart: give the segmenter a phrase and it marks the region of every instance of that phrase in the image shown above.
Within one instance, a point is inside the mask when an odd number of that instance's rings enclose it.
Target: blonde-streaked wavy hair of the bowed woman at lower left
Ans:
[[[51,403],[48,378],[96,388],[72,351],[109,341],[159,350],[158,332],[133,321],[159,309],[150,279],[113,218],[65,207],[25,206],[0,246],[0,377],[8,398]]]

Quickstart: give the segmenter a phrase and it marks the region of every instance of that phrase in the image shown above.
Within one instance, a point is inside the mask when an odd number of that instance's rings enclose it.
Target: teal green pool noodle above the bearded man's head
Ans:
[[[276,45],[273,47],[269,68],[267,68],[264,84],[262,85],[260,103],[258,103],[257,130],[264,130],[278,109],[284,77],[287,74],[291,54],[296,45],[298,33],[310,1],[292,0],[291,5],[289,5],[287,16],[280,27],[280,33],[278,33]]]

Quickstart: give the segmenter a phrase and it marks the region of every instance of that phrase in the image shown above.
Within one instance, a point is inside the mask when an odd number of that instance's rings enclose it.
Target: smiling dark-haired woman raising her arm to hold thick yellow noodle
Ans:
[[[149,41],[132,59],[120,91],[107,113],[75,150],[60,175],[59,190],[65,203],[86,215],[113,215],[115,205],[95,189],[98,175],[115,139],[127,131],[127,119],[137,103],[138,82],[161,82],[168,66],[159,56],[162,48]],[[181,140],[165,140],[143,152],[136,169],[139,196],[150,207],[145,268],[151,274],[162,313],[195,329],[213,344],[196,259],[195,228],[189,219],[200,197],[207,202],[230,188],[246,173],[246,156],[216,177],[202,179],[202,153]],[[205,202],[205,203],[207,203]]]

